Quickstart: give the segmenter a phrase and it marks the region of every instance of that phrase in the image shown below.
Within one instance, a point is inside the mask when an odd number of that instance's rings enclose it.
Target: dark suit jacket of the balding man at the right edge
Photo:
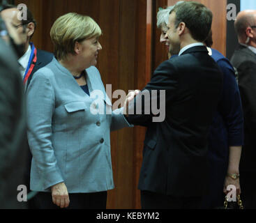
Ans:
[[[244,114],[244,146],[240,171],[256,171],[256,54],[239,45],[234,52],[232,65],[239,74],[239,89]]]

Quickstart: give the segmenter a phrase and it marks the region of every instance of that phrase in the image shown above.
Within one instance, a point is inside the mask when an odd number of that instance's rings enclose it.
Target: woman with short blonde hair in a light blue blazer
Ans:
[[[27,91],[31,190],[40,208],[105,209],[114,188],[110,131],[131,125],[123,109],[112,112],[95,67],[101,29],[91,17],[68,13],[50,36],[56,59]]]

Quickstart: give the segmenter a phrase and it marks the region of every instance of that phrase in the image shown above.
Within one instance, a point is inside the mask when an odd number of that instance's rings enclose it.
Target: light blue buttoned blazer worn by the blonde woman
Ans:
[[[102,92],[97,100],[86,95],[56,59],[33,76],[27,91],[33,191],[50,192],[52,185],[61,182],[69,193],[114,188],[110,131],[133,125],[123,114],[112,112],[97,68],[86,72],[89,92]],[[98,114],[99,102],[105,114]]]

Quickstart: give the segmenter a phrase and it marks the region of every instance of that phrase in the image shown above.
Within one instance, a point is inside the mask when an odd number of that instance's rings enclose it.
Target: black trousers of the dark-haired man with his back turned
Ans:
[[[172,197],[155,192],[141,191],[142,209],[199,209],[201,197]]]

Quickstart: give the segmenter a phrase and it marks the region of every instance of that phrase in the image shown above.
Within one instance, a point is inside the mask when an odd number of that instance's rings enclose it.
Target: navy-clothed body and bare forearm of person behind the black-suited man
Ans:
[[[227,194],[228,185],[234,185],[236,194],[241,194],[239,162],[243,145],[243,109],[233,66],[223,54],[211,49],[212,31],[204,43],[209,55],[223,72],[223,92],[210,128],[210,178],[202,208],[220,208],[224,201],[223,192]]]

